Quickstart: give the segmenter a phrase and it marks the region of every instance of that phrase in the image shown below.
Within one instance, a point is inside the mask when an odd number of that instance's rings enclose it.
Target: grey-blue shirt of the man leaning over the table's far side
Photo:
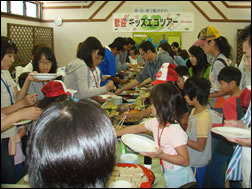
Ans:
[[[155,74],[159,71],[163,63],[173,63],[173,59],[166,52],[159,52],[157,54],[155,62],[145,62],[144,69],[136,76],[138,83],[142,83],[149,77],[154,81],[156,79]]]

